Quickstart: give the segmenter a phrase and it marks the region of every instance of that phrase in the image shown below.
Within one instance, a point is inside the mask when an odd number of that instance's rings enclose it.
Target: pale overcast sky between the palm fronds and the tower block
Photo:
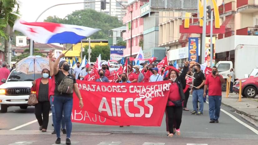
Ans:
[[[51,7],[60,3],[71,3],[71,2],[83,2],[83,0],[19,0],[22,4],[20,5],[21,19],[27,22],[34,22],[41,12],[46,8]],[[64,18],[67,14],[72,13],[75,10],[83,9],[83,3],[61,5],[52,7],[47,10],[37,22],[43,22],[48,16],[54,16]]]

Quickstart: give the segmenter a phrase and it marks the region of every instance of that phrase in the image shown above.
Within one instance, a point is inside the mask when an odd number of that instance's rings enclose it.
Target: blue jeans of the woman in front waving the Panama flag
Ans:
[[[66,122],[66,138],[71,137],[72,132],[72,108],[73,108],[73,98],[64,97],[64,96],[55,96],[54,97],[54,107],[55,107],[55,124],[54,128],[56,130],[56,137],[60,138],[60,128],[61,128],[61,120],[64,112],[64,118]]]

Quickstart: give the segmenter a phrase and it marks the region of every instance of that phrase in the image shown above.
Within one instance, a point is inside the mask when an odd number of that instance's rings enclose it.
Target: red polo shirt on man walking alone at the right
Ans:
[[[220,75],[220,77],[222,76]],[[205,85],[208,85],[209,96],[221,96],[221,81],[219,76],[214,78],[212,74],[208,75],[206,77]]]

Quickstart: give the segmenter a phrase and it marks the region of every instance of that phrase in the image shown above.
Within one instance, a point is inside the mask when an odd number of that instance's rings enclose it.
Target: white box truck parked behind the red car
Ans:
[[[235,59],[232,61],[219,61],[217,68],[223,78],[229,79],[230,69],[234,68],[235,80],[246,78],[253,69],[258,68],[258,46],[238,45],[235,49]],[[226,84],[222,85],[226,91]]]

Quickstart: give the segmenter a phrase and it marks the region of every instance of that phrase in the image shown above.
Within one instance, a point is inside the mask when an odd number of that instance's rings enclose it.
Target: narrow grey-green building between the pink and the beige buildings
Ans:
[[[154,56],[157,57],[157,61],[162,60],[165,57],[166,49],[165,47],[158,47],[159,12],[154,11],[148,2],[141,6],[141,17],[144,24],[144,58]]]

